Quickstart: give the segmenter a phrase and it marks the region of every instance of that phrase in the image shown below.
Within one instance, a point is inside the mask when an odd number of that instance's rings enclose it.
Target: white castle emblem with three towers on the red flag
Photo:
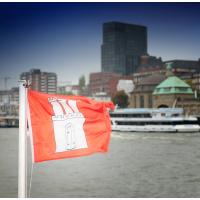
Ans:
[[[56,152],[87,148],[83,124],[85,118],[79,112],[75,100],[49,98],[54,111],[52,116]]]

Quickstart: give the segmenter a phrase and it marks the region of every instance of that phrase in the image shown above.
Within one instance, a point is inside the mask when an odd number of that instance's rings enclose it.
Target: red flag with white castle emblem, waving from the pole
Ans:
[[[28,91],[34,162],[107,152],[111,102]]]

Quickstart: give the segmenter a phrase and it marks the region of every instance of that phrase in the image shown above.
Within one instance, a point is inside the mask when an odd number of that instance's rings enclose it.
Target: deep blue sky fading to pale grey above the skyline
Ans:
[[[148,30],[148,53],[200,58],[200,3],[0,3],[0,89],[33,68],[77,84],[101,71],[102,25],[119,21]]]

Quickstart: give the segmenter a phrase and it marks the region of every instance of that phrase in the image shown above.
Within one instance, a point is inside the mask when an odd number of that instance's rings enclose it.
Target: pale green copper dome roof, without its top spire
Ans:
[[[190,85],[177,76],[169,76],[155,88],[153,94],[193,94],[193,91]]]

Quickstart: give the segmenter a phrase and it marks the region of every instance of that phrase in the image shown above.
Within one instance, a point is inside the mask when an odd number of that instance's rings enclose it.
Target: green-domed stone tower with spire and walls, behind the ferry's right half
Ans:
[[[199,116],[200,101],[195,98],[192,87],[175,76],[170,65],[167,75],[153,92],[153,107],[178,107],[183,108],[186,114]]]

